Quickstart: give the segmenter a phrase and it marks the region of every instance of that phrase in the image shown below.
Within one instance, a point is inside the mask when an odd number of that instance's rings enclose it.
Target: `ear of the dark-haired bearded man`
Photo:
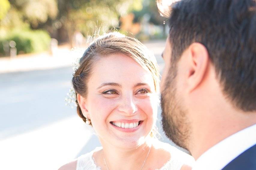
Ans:
[[[187,50],[186,62],[186,83],[188,92],[191,92],[202,83],[207,73],[209,65],[207,48],[201,43],[192,43]]]

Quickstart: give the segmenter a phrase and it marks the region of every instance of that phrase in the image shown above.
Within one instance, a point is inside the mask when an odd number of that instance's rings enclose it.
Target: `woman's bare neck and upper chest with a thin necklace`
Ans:
[[[101,159],[105,159],[107,167],[114,169],[140,169],[151,147],[148,140],[134,148],[118,148],[111,144],[102,143]]]

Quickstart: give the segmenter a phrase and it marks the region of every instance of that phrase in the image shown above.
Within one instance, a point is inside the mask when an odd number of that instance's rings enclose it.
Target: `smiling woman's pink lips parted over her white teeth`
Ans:
[[[142,120],[117,120],[110,122],[110,125],[112,125],[115,129],[120,130],[122,132],[134,132],[140,128],[142,125]]]

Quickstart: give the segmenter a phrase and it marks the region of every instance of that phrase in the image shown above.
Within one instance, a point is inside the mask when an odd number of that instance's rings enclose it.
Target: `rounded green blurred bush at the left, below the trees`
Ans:
[[[0,55],[8,55],[4,51],[4,45],[11,40],[16,42],[17,54],[36,53],[48,50],[51,37],[43,30],[15,30],[5,37],[0,37]]]

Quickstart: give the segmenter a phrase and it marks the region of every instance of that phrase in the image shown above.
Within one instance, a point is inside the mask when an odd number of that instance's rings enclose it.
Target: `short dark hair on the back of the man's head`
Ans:
[[[256,0],[182,0],[170,9],[172,63],[200,42],[227,98],[256,111]]]

